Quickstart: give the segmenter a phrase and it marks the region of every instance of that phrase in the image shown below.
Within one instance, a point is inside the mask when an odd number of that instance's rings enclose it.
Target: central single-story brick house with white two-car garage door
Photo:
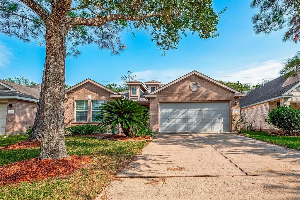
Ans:
[[[129,91],[117,93],[91,79],[65,91],[65,126],[98,124],[97,106],[123,98],[149,108],[150,128],[163,133],[229,132],[239,116],[239,91],[197,71],[166,85],[159,81],[126,82]]]

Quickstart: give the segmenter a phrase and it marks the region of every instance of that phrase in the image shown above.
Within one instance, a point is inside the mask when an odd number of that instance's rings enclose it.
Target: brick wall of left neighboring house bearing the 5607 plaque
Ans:
[[[13,114],[6,114],[6,134],[24,133],[29,126],[33,126],[38,103],[22,100],[7,100],[7,104],[13,104]]]

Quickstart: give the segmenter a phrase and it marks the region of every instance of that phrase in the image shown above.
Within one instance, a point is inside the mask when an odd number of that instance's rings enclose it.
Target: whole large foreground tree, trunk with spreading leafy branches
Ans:
[[[0,30],[23,41],[45,42],[46,58],[33,136],[41,135],[40,158],[67,157],[64,146],[66,55],[96,43],[113,54],[125,49],[119,33],[143,30],[164,54],[176,49],[185,31],[218,36],[220,14],[212,0],[1,0]]]

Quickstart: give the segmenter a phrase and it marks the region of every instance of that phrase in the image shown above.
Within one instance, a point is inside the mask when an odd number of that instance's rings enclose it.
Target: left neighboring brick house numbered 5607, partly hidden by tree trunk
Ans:
[[[0,134],[24,133],[35,121],[41,85],[23,86],[0,79]]]

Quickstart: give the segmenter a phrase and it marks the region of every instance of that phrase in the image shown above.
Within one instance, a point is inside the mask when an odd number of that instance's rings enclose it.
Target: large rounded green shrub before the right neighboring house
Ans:
[[[300,110],[290,106],[281,106],[269,112],[265,121],[292,135],[295,131],[300,130]]]

